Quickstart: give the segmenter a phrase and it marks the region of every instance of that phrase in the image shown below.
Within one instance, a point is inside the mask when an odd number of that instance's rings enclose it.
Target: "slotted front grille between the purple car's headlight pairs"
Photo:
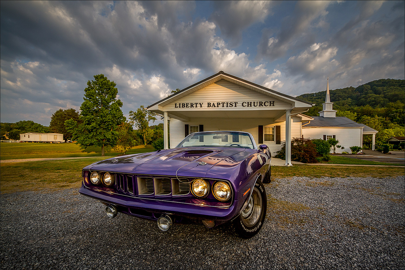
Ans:
[[[182,196],[190,194],[188,178],[115,174],[115,189],[134,196]]]

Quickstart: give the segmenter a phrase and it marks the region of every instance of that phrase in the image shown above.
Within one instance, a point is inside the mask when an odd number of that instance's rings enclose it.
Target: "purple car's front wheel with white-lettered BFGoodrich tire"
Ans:
[[[263,226],[267,212],[266,190],[260,180],[253,187],[249,202],[231,223],[231,229],[241,238],[255,236]]]

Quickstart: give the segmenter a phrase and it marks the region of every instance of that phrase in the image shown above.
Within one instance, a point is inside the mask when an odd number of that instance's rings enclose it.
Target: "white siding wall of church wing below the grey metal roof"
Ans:
[[[304,138],[310,139],[323,139],[324,135],[335,135],[339,141],[339,145],[344,149],[336,148],[336,153],[343,151],[351,152],[351,146],[362,147],[362,129],[361,128],[342,128],[342,127],[319,127],[319,128],[305,128],[302,129]],[[331,151],[333,152],[333,151]]]

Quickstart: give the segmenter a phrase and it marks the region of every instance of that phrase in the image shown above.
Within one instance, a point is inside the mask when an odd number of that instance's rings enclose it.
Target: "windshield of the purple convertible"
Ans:
[[[176,147],[231,147],[255,149],[249,133],[237,131],[213,131],[192,133]]]

